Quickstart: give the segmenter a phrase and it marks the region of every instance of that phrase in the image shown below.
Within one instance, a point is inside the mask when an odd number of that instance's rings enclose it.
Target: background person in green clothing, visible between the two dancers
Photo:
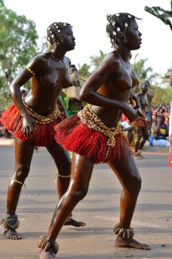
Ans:
[[[80,90],[85,83],[85,80],[78,76],[76,65],[70,65],[69,72],[74,85],[67,89],[63,89],[61,101],[63,101],[67,114],[70,116],[82,110],[86,103],[79,100]]]

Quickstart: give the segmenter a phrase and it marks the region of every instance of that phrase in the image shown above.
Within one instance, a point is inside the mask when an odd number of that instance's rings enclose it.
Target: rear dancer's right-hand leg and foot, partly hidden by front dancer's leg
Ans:
[[[54,159],[54,163],[56,164],[56,167],[58,169],[56,187],[58,191],[58,198],[60,200],[63,194],[65,194],[65,192],[67,191],[67,188],[69,186],[70,177],[67,176],[70,176],[71,174],[71,159],[69,158],[68,152],[65,149],[63,149],[61,145],[56,144],[54,146],[47,147],[47,150]],[[70,214],[70,216],[72,216],[72,213]],[[74,227],[85,226],[84,222],[76,221],[70,216],[67,218],[67,221],[64,225],[72,225]]]

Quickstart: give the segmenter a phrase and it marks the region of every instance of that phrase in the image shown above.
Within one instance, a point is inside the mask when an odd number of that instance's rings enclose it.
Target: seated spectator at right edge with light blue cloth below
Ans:
[[[155,121],[153,121],[151,126],[149,145],[158,147],[169,147],[169,128],[164,123],[164,121],[164,114],[158,112]]]

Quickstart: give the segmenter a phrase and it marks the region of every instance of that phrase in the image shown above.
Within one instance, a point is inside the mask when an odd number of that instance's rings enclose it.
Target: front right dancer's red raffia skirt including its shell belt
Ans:
[[[87,105],[54,127],[55,139],[65,149],[87,158],[95,164],[107,163],[132,154],[120,123],[107,127]]]

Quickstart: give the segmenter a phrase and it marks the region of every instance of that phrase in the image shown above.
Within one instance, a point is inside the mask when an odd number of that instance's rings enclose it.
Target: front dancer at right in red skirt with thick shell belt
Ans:
[[[39,239],[40,259],[52,259],[57,253],[56,238],[70,211],[86,196],[97,163],[107,163],[122,185],[120,220],[114,227],[116,247],[150,249],[133,239],[131,220],[141,177],[127,137],[120,128],[122,113],[129,121],[136,120],[136,110],[127,103],[131,88],[138,85],[136,72],[130,64],[131,50],[138,50],[142,41],[136,19],[129,13],[107,15],[107,35],[114,50],[83,85],[80,101],[90,105],[55,127],[56,141],[73,152],[72,178],[54,211],[48,235]],[[138,105],[136,96],[135,99]]]

